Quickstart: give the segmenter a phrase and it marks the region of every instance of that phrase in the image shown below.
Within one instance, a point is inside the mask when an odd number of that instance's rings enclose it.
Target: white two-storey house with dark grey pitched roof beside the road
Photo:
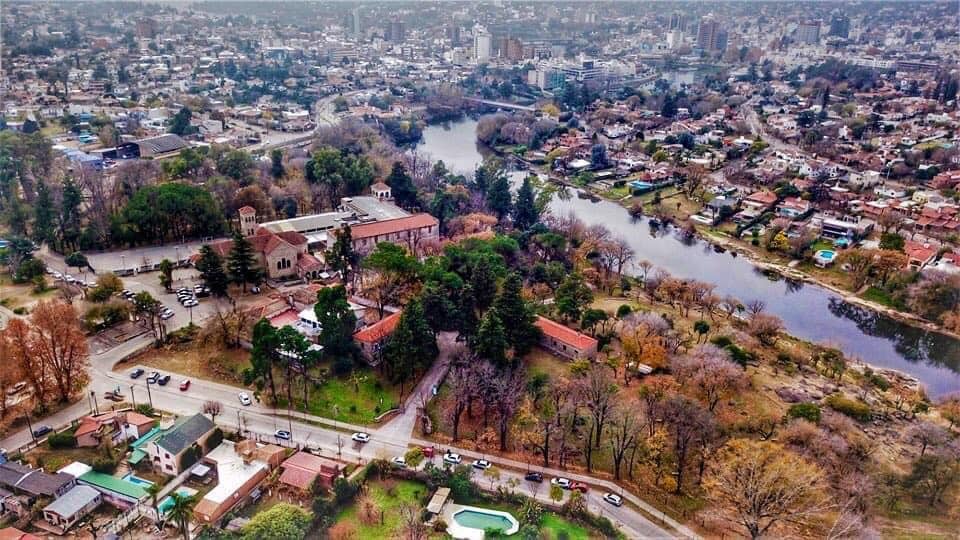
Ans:
[[[141,449],[150,457],[155,468],[164,474],[176,476],[196,463],[207,439],[215,430],[216,426],[209,418],[197,413],[180,418]]]

